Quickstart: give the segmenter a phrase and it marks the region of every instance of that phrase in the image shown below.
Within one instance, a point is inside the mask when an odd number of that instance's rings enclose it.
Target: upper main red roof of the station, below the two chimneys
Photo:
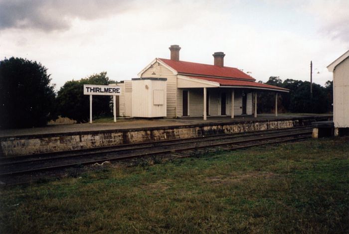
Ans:
[[[219,67],[214,65],[202,64],[202,63],[191,63],[184,61],[174,61],[171,59],[162,59],[161,61],[172,67],[180,74],[191,74],[201,76],[215,76],[215,77],[226,77],[243,79],[249,81],[255,81],[253,77],[233,67]]]

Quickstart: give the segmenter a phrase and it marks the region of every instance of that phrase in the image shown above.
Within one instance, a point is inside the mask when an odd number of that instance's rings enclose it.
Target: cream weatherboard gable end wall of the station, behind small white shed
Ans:
[[[167,78],[167,117],[176,117],[177,78],[172,71],[160,63],[153,64],[141,76]],[[180,103],[181,105],[181,103]],[[180,112],[181,113],[181,112]],[[181,116],[181,114],[180,114]]]

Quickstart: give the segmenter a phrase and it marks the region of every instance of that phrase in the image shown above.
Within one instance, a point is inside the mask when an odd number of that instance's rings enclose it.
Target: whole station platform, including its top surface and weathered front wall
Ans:
[[[48,125],[0,130],[0,157],[108,147],[158,140],[234,134],[296,126],[332,119],[331,115],[258,115],[118,119],[116,123]]]

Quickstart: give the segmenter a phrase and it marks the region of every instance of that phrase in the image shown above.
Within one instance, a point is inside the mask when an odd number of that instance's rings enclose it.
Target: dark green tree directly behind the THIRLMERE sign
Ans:
[[[108,85],[115,81],[109,80],[107,72],[93,74],[78,81],[67,81],[58,91],[58,113],[62,117],[75,119],[77,122],[87,122],[90,116],[88,95],[83,94],[83,86]],[[94,96],[92,101],[92,115],[101,116],[110,114],[110,96]]]

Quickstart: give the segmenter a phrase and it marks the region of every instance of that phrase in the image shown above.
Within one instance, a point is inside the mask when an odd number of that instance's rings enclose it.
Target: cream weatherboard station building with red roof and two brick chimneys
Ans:
[[[213,54],[213,65],[185,62],[179,60],[178,45],[171,45],[171,59],[155,58],[138,76],[141,78],[124,81],[125,87],[120,97],[120,115],[133,116],[130,107],[131,93],[135,82],[150,78],[166,78],[166,112],[164,117],[203,117],[241,116],[257,117],[257,92],[275,93],[275,115],[277,116],[277,96],[280,92],[289,92],[276,86],[257,83],[256,80],[241,70],[224,66],[223,52]],[[151,83],[150,83],[151,84]],[[120,84],[119,84],[120,85]],[[139,87],[139,86],[137,86]],[[129,93],[129,94],[128,94]],[[124,110],[124,111],[122,111]],[[129,110],[129,112],[127,111]],[[147,117],[147,116],[145,116]]]

